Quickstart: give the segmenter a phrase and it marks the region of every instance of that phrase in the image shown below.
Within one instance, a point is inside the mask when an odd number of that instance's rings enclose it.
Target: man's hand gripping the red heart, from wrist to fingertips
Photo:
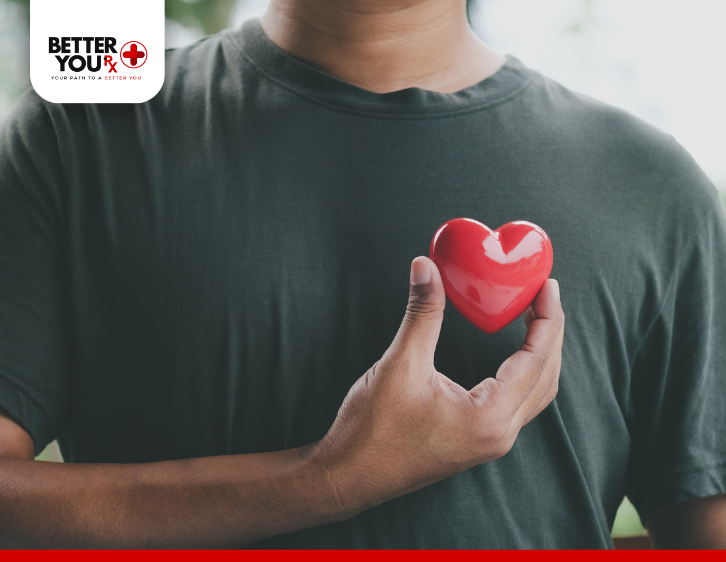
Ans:
[[[309,451],[327,471],[341,512],[352,515],[503,456],[557,394],[564,313],[556,281],[527,310],[522,348],[496,379],[471,390],[434,368],[445,304],[436,265],[416,258],[395,340]]]

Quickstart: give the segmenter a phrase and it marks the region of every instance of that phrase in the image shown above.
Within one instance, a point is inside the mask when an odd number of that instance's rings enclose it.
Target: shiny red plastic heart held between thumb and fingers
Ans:
[[[451,304],[487,334],[522,314],[552,271],[549,237],[526,221],[492,232],[472,219],[450,220],[434,234],[429,254]]]

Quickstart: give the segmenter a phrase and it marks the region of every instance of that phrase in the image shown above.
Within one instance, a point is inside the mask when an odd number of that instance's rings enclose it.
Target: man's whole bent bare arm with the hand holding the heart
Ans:
[[[557,393],[564,314],[548,281],[522,349],[467,391],[434,368],[446,303],[435,264],[412,264],[396,338],[325,437],[301,449],[149,464],[28,460],[5,417],[0,546],[238,547],[339,521],[506,454]],[[151,430],[151,429],[150,429]]]

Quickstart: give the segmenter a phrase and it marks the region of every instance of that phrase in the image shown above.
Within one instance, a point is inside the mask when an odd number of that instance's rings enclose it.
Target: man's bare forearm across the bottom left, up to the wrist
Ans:
[[[305,450],[148,464],[0,459],[0,546],[239,547],[344,519]]]

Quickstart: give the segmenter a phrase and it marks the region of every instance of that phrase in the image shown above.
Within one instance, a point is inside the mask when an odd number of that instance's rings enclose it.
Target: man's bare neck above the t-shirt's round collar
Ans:
[[[378,93],[456,92],[505,60],[471,30],[465,0],[272,0],[261,23],[292,56]]]

